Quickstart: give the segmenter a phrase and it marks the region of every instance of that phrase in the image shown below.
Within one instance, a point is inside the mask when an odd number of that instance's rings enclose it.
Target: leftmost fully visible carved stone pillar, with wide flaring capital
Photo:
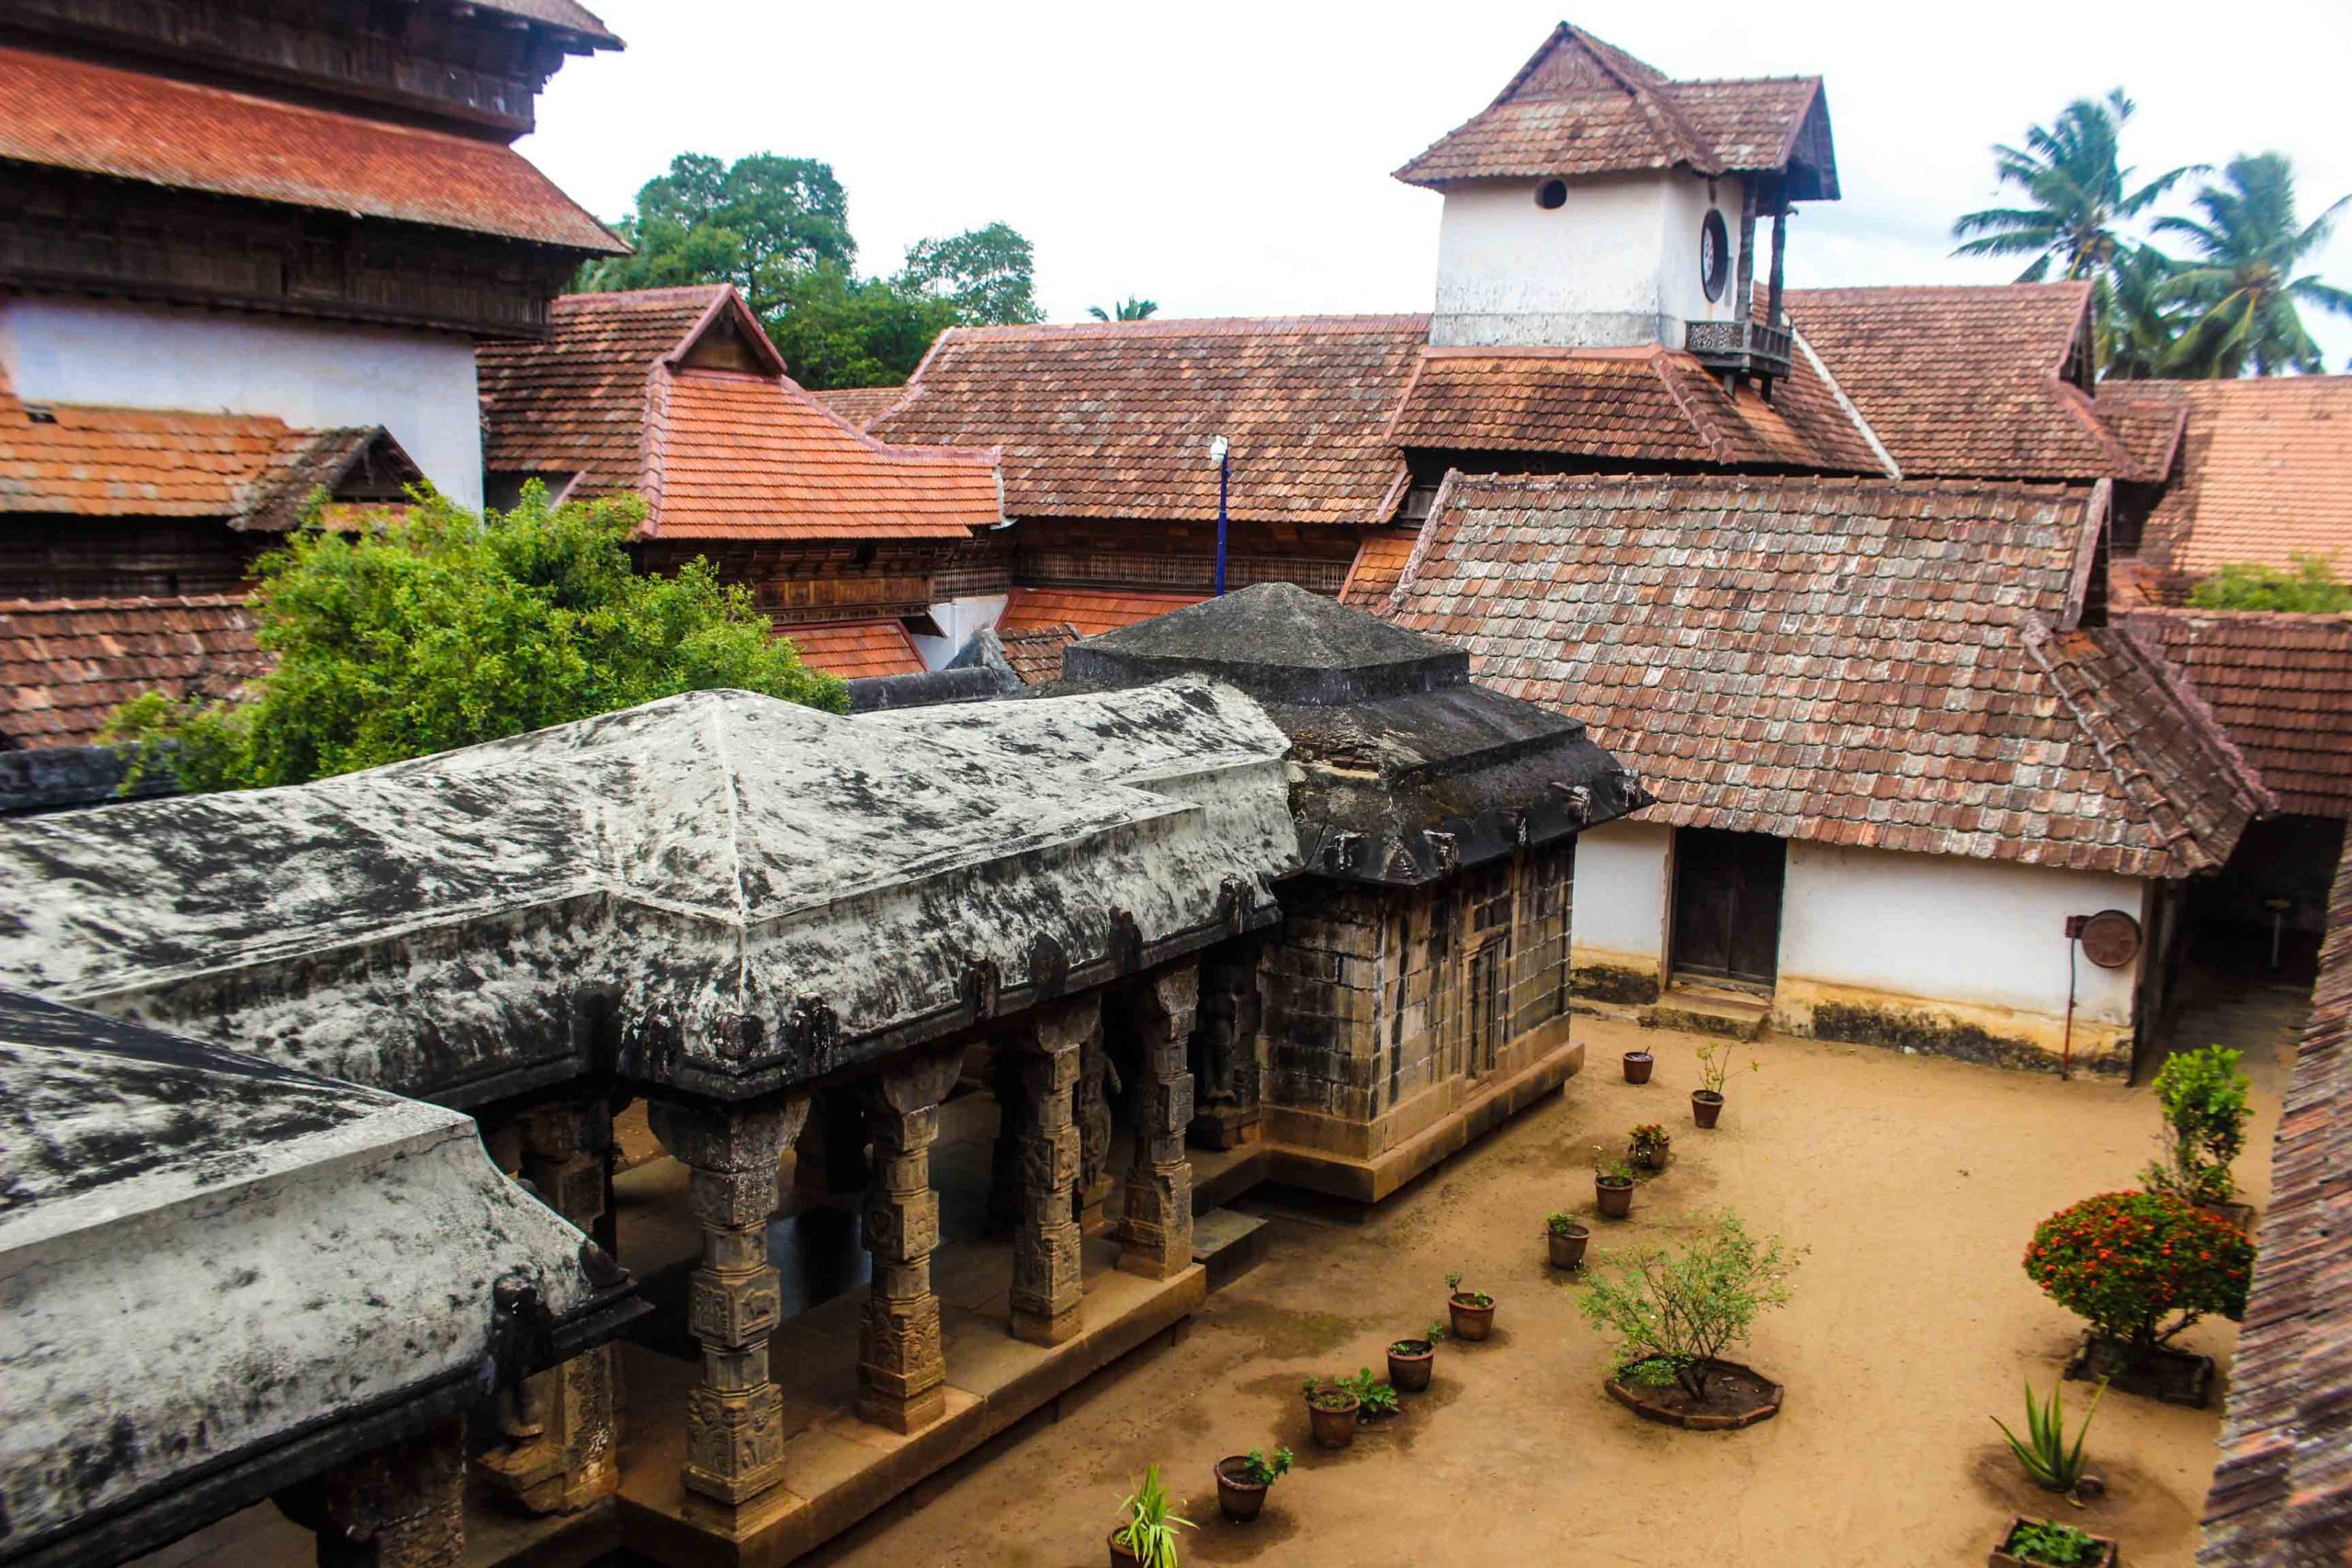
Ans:
[[[687,1490],[748,1502],[783,1479],[783,1394],[767,1375],[767,1335],[783,1314],[767,1260],[776,1166],[800,1135],[807,1098],[753,1105],[654,1100],[652,1126],[691,1173],[703,1265],[687,1324],[703,1347],[703,1380],[687,1394]]]

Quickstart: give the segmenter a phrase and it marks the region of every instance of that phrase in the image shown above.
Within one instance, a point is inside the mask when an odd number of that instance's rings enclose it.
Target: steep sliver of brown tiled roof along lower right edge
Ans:
[[[2336,865],[2312,1016],[2270,1157],[2253,1293],[2230,1368],[2204,1568],[2352,1556],[2352,844]]]

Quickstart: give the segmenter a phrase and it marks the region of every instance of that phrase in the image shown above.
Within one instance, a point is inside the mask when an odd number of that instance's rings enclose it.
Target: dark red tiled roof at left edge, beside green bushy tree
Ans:
[[[134,696],[230,696],[270,663],[230,595],[0,599],[0,750],[87,745]]]

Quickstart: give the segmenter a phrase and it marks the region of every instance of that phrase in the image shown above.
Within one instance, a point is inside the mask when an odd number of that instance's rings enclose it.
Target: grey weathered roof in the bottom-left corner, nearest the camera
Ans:
[[[456,1112],[0,990],[0,1554],[160,1544],[125,1516],[198,1472],[242,1507],[327,1418],[532,1371],[494,1293],[602,1312],[583,1241]]]

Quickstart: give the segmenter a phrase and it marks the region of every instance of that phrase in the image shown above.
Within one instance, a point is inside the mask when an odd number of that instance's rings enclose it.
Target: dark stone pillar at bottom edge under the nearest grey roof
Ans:
[[[318,1530],[320,1568],[459,1568],[466,1561],[466,1418],[452,1415],[285,1497]]]

